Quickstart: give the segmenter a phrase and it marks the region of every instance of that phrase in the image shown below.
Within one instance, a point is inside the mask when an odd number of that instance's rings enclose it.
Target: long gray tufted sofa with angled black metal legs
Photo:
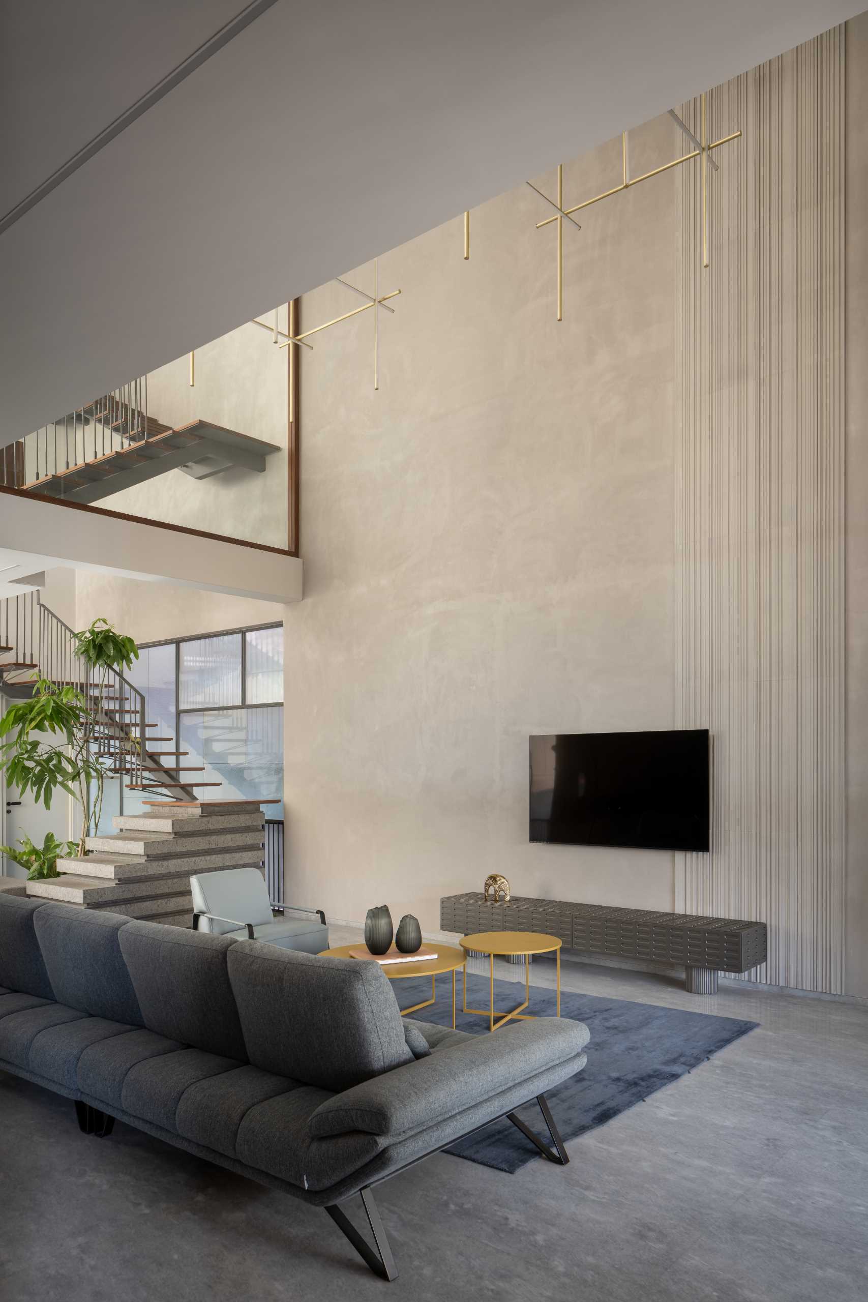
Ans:
[[[0,1069],[324,1207],[384,1279],[372,1187],[509,1117],[567,1156],[545,1090],[584,1065],[558,1018],[467,1035],[403,1019],[375,963],[0,896]],[[537,1099],[553,1147],[513,1109]],[[360,1194],[372,1242],[341,1204]]]

